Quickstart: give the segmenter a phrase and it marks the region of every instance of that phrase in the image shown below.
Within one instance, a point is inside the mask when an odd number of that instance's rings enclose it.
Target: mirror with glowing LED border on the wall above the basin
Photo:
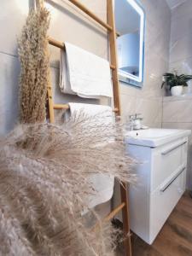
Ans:
[[[119,79],[143,85],[144,12],[136,0],[114,0]]]

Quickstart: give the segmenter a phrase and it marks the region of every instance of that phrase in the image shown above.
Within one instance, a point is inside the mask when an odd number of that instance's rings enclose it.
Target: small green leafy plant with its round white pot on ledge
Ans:
[[[164,73],[161,88],[166,84],[171,90],[172,96],[179,96],[183,92],[183,86],[188,86],[187,82],[192,79],[192,75],[177,75],[177,73]]]

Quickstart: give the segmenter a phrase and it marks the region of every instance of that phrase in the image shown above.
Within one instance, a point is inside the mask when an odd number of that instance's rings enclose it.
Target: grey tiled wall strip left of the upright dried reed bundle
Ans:
[[[18,75],[16,38],[26,20],[29,2],[2,0],[0,15],[0,135],[10,131],[18,117]]]

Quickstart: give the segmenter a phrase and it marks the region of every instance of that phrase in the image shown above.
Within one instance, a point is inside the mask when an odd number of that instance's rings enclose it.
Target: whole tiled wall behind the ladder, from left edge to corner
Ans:
[[[18,77],[20,64],[17,57],[17,37],[25,23],[33,0],[2,0],[0,17],[0,135],[10,131],[18,120]],[[81,0],[106,20],[106,1]],[[143,89],[121,84],[121,100],[124,116],[142,113],[146,125],[160,126],[162,115],[160,90],[161,74],[167,69],[170,35],[170,10],[166,1],[142,0],[146,12],[145,67]],[[49,35],[68,41],[108,58],[108,40],[105,30],[87,19],[72,4],[62,0],[47,0],[51,22]],[[76,96],[63,96],[58,89],[60,51],[50,46],[51,73],[55,102],[79,102]],[[84,102],[90,102],[84,100]],[[95,101],[96,102],[96,101]],[[99,103],[99,102],[96,102]],[[102,101],[108,104],[108,101]]]

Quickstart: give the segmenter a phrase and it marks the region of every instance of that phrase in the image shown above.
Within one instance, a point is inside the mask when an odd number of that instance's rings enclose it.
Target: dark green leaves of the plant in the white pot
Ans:
[[[163,74],[163,83],[161,84],[161,88],[165,84],[169,86],[169,89],[171,90],[174,86],[188,86],[187,82],[192,79],[192,75],[177,75],[177,73],[164,73]]]

